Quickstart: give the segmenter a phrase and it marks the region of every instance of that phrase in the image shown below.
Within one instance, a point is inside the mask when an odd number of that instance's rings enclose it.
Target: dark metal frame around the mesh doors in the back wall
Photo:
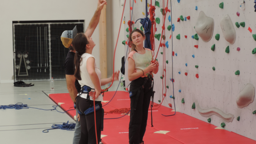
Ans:
[[[50,69],[49,69],[49,71],[50,71],[50,77],[49,77],[49,79],[45,79],[45,80],[23,80],[24,82],[32,82],[32,81],[50,81],[51,80],[51,35],[50,35],[50,24],[81,24],[81,23],[83,23],[84,24],[84,31],[85,31],[85,22],[59,22],[59,23],[14,23],[13,24],[13,53],[14,53],[14,55],[13,55],[13,58],[14,58],[14,82],[15,81],[17,81],[16,80],[16,51],[15,51],[15,28],[14,28],[14,26],[15,25],[28,25],[28,24],[30,24],[30,25],[32,25],[32,24],[48,24],[48,29],[49,29],[49,35],[48,35],[48,37],[49,37],[49,66],[50,66]],[[55,81],[60,81],[60,80],[66,80],[66,79],[54,79]]]

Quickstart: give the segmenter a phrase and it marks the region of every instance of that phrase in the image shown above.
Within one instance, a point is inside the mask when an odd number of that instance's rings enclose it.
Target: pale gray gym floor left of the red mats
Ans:
[[[54,90],[50,82],[32,82],[33,87],[14,87],[13,83],[0,83],[0,105],[16,103],[27,104],[39,109],[53,109],[56,105],[49,97],[53,93],[68,93],[66,81],[55,81]],[[115,91],[118,82],[109,89]],[[105,88],[105,86],[102,86]],[[118,90],[123,90],[119,87]],[[30,98],[30,99],[29,99]],[[58,111],[63,110],[57,107]],[[55,129],[49,133],[42,130],[51,128],[53,124],[75,122],[66,113],[43,111],[38,109],[0,109],[0,144],[72,144],[74,131]]]

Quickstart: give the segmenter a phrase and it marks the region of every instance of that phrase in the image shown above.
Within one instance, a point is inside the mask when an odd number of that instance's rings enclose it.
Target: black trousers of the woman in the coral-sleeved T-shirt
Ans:
[[[129,123],[129,144],[139,144],[143,141],[143,136],[146,131],[147,126],[147,115],[149,111],[150,98],[152,95],[152,81],[147,80],[144,89],[141,90],[139,94],[136,110],[134,110],[134,103],[138,91],[134,92],[135,89],[141,87],[144,83],[144,78],[138,78],[131,81],[130,91],[133,91],[133,96],[131,99],[131,113],[130,113],[130,123]]]

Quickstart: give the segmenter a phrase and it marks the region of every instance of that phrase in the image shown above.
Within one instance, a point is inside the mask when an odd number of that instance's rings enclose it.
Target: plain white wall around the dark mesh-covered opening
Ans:
[[[97,0],[5,0],[0,5],[0,82],[13,82],[12,21],[85,19],[87,29],[97,8]],[[99,66],[99,29],[92,36],[96,46],[93,55]]]

